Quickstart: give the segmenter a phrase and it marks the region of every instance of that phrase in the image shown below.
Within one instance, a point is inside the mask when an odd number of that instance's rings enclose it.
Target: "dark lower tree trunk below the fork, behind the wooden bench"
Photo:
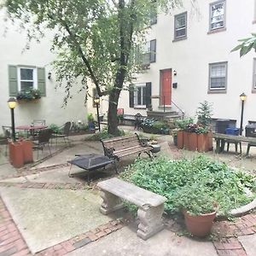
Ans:
[[[112,90],[108,103],[108,133],[119,136],[117,107],[119,102],[119,90]]]

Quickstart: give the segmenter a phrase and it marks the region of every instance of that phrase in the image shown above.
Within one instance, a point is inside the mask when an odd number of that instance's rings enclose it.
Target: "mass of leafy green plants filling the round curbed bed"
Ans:
[[[188,160],[136,160],[121,177],[167,198],[166,212],[206,213],[218,204],[218,213],[228,215],[255,198],[255,177],[235,172],[224,163],[200,155]],[[252,195],[247,195],[245,188]]]

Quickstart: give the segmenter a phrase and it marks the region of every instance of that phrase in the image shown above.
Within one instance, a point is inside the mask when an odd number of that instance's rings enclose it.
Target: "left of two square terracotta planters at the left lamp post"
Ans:
[[[24,166],[23,150],[20,143],[9,143],[9,162],[15,168]]]

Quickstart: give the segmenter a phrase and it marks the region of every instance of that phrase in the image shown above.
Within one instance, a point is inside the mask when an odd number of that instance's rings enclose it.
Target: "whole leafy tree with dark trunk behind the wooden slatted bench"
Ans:
[[[133,49],[145,42],[150,14],[168,13],[181,0],[6,0],[11,19],[19,19],[28,38],[54,34],[52,50],[58,54],[55,71],[67,96],[75,81],[89,78],[99,96],[108,95],[108,132],[118,133],[117,104],[124,84],[140,67]],[[194,1],[194,0],[193,0]]]

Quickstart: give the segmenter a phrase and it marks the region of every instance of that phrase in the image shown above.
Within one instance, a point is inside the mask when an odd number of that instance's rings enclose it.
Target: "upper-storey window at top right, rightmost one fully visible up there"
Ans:
[[[210,4],[210,31],[224,28],[225,26],[225,1]]]

